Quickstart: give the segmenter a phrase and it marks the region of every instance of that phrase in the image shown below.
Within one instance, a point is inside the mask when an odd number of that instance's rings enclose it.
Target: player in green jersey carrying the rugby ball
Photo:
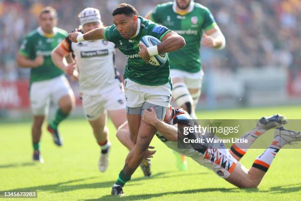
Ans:
[[[150,56],[176,51],[185,45],[179,34],[157,25],[138,15],[136,9],[122,3],[113,10],[113,26],[98,28],[88,33],[69,33],[72,42],[107,39],[128,58],[124,72],[126,113],[131,138],[135,146],[127,155],[125,165],[112,188],[112,195],[124,195],[122,186],[145,158],[156,129],[141,119],[145,109],[154,107],[157,118],[162,120],[171,99],[169,62],[155,67],[148,64]],[[145,35],[152,35],[162,42],[147,48],[139,44]],[[141,48],[141,50],[139,50]]]

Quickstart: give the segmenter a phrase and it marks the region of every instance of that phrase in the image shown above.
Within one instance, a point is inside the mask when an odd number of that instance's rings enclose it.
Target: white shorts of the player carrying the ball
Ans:
[[[130,79],[124,80],[126,106],[141,107],[144,102],[168,107],[172,93],[171,84],[168,82],[159,86],[138,84]]]

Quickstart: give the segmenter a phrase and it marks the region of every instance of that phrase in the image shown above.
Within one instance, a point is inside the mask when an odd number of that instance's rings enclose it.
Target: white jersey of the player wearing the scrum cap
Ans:
[[[120,87],[114,67],[114,43],[107,40],[75,43],[67,36],[61,42],[61,46],[74,55],[79,71],[81,93],[89,96],[100,95]]]

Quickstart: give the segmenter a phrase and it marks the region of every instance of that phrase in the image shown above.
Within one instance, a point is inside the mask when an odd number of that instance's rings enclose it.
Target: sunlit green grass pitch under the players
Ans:
[[[198,117],[259,119],[274,113],[300,119],[301,106],[200,111]],[[100,173],[97,167],[99,147],[85,119],[66,120],[60,125],[64,140],[61,148],[52,142],[44,125],[41,152],[45,164],[31,161],[30,123],[0,123],[0,191],[37,190],[37,199],[24,199],[33,201],[295,201],[301,198],[300,149],[281,150],[259,188],[246,190],[227,183],[190,159],[187,171],[177,170],[172,151],[156,137],[151,142],[157,150],[151,161],[153,177],[145,179],[138,168],[124,187],[126,196],[111,197],[111,187],[128,151],[115,137],[113,124],[109,121],[108,125],[112,142],[110,164],[105,173]],[[262,152],[261,149],[248,150],[241,163],[249,168]]]

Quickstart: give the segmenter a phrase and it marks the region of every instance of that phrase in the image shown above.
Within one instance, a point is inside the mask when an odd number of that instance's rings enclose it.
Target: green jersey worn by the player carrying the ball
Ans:
[[[170,32],[164,26],[157,25],[150,20],[138,17],[138,29],[135,37],[124,39],[115,25],[107,27],[104,31],[105,39],[115,43],[118,49],[127,58],[127,65],[124,71],[124,79],[128,78],[136,83],[148,86],[158,86],[166,84],[171,80],[169,76],[169,61],[159,67],[147,64],[138,55],[140,39],[145,35],[152,35],[159,40]]]

